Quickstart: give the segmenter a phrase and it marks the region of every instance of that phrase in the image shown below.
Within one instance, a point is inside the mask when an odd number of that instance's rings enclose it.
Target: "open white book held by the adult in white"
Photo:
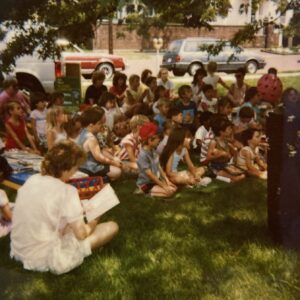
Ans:
[[[120,203],[110,184],[106,184],[90,200],[82,200],[81,202],[88,222],[102,216]]]

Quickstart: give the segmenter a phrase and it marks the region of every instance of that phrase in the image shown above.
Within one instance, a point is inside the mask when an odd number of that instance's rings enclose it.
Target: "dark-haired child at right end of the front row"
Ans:
[[[237,166],[250,176],[267,179],[267,164],[259,155],[260,131],[249,128],[242,132],[241,140],[244,147],[237,156]]]

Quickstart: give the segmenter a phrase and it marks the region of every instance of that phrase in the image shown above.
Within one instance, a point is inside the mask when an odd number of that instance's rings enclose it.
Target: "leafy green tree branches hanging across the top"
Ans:
[[[255,9],[261,0],[252,0]],[[94,37],[97,24],[112,17],[118,8],[130,0],[1,0],[0,39],[8,30],[14,31],[14,39],[7,40],[7,47],[0,54],[3,69],[8,70],[15,59],[38,51],[42,58],[55,57],[60,50],[55,44],[58,36],[81,44]],[[189,27],[212,29],[211,22],[217,16],[226,16],[230,0],[140,0],[145,9],[127,18],[129,29],[147,36],[151,26],[163,28],[167,23],[181,23]],[[297,0],[278,0],[278,9],[284,11]],[[150,11],[155,10],[155,17]],[[262,26],[254,22],[245,26],[232,39],[234,46],[252,39]],[[220,47],[219,47],[220,48]],[[220,51],[220,49],[209,49]]]

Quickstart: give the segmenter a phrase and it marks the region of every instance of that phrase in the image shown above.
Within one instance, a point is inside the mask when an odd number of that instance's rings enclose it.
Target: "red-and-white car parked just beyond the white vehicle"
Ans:
[[[81,66],[81,73],[84,78],[89,79],[95,70],[101,70],[106,78],[112,77],[115,71],[125,69],[122,57],[117,55],[103,54],[97,52],[86,52],[77,45],[67,40],[57,40],[57,44],[63,47],[61,53],[62,62],[78,62]]]

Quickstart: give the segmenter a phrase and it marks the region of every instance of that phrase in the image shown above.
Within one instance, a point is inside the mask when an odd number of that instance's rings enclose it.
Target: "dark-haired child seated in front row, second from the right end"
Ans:
[[[231,144],[231,122],[226,118],[219,117],[214,120],[212,130],[215,138],[208,147],[209,168],[216,176],[226,177],[234,182],[244,179],[245,175],[232,164],[237,155],[237,149]]]

